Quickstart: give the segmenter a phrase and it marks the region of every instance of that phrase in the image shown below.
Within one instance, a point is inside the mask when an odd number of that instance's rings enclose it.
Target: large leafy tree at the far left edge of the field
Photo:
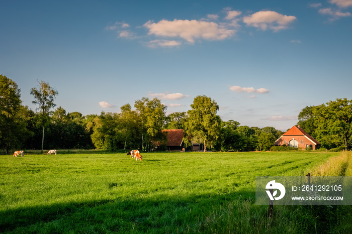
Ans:
[[[6,76],[0,75],[0,147],[8,154],[9,150],[24,142],[27,131],[22,119],[24,107],[18,85]]]

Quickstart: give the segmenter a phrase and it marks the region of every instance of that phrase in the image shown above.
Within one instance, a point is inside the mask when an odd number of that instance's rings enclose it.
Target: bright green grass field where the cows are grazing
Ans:
[[[255,205],[256,176],[304,176],[339,153],[58,153],[0,156],[0,232],[352,232],[350,206],[268,218]]]

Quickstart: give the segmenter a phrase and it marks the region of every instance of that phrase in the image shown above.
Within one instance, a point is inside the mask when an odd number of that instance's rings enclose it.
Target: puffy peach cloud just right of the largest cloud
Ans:
[[[282,29],[287,29],[288,25],[295,21],[294,16],[285,16],[273,11],[260,11],[250,16],[243,17],[243,22],[247,26],[253,26],[263,31],[268,28],[277,32]]]

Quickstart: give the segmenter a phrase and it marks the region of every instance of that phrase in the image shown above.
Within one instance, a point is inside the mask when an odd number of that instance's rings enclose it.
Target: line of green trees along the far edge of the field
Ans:
[[[184,129],[187,145],[201,143],[204,149],[223,151],[269,150],[283,132],[273,127],[240,126],[217,115],[219,105],[205,95],[194,98],[187,112],[166,115],[167,106],[158,98],[142,97],[134,105],[121,106],[119,113],[101,112],[83,116],[55,106],[58,92],[44,81],[31,89],[37,109],[23,106],[20,89],[0,76],[0,147],[12,149],[162,149],[163,129]],[[320,106],[305,107],[299,124],[318,141],[349,145],[350,101],[341,99]],[[337,112],[339,111],[339,112]],[[314,126],[314,128],[312,128]],[[324,140],[326,139],[326,140]]]

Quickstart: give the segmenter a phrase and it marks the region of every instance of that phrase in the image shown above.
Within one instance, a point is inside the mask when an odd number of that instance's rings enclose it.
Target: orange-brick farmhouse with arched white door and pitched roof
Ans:
[[[312,138],[308,133],[304,132],[300,126],[293,126],[289,131],[284,133],[278,140],[275,141],[276,146],[288,145],[295,148],[311,148],[319,149],[321,144]]]

